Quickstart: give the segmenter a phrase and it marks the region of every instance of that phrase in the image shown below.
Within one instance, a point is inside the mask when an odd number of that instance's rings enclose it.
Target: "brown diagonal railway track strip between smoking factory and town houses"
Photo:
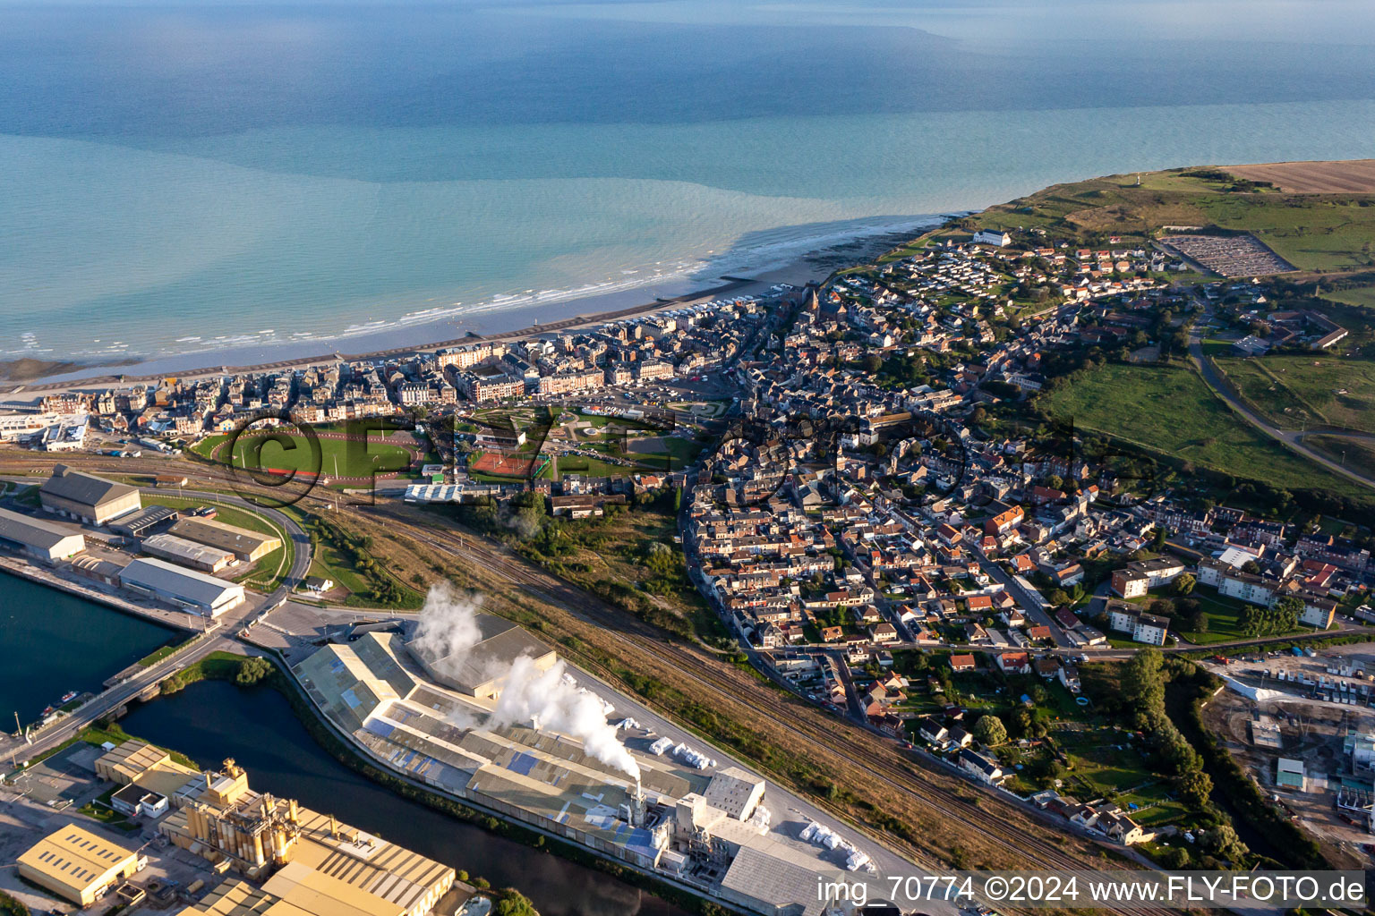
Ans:
[[[742,695],[742,685],[723,673],[718,666],[703,659],[697,652],[663,639],[660,632],[632,615],[604,604],[598,599],[588,596],[558,580],[557,577],[534,569],[518,559],[503,556],[498,549],[481,542],[476,536],[448,534],[439,529],[417,525],[404,512],[389,508],[375,508],[370,515],[386,515],[389,520],[399,522],[408,527],[407,534],[433,549],[459,558],[465,562],[481,566],[512,582],[516,586],[534,592],[538,597],[568,607],[576,617],[586,622],[601,626],[610,639],[623,644],[627,650],[649,652],[657,658],[670,659],[675,669],[690,678],[700,688],[719,696],[723,700],[738,702]],[[754,685],[751,685],[754,687]],[[752,706],[769,715],[781,728],[792,735],[824,747],[826,753],[846,761],[847,764],[868,770],[886,779],[892,791],[905,798],[918,802],[921,806],[935,812],[942,817],[971,825],[982,825],[980,834],[994,846],[1013,854],[1018,860],[1038,871],[1066,872],[1089,871],[1089,865],[1077,856],[1066,853],[1053,843],[1031,836],[1023,824],[1019,824],[996,810],[996,806],[971,808],[969,803],[956,792],[921,781],[921,775],[902,758],[902,751],[895,743],[880,740],[877,735],[862,729],[859,725],[844,721],[843,729],[833,728],[832,721],[818,724],[814,717],[804,714],[793,703],[785,702],[774,691],[754,689],[751,694]],[[859,757],[855,753],[855,737],[873,746],[881,744],[874,754]],[[971,786],[980,798],[1002,803],[996,797]],[[938,862],[925,861],[923,865],[934,871],[943,871]],[[1172,912],[1148,908],[1116,908],[1112,912],[1128,916],[1155,916]]]

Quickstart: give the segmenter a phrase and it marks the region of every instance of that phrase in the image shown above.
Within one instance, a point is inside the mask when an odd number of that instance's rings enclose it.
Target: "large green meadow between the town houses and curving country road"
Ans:
[[[1188,368],[1108,364],[1064,380],[1038,404],[1057,419],[1277,488],[1367,490],[1254,430]]]

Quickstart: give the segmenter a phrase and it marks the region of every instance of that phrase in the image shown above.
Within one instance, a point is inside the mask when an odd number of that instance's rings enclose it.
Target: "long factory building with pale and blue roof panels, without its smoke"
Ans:
[[[869,861],[835,834],[829,846],[799,842],[800,825],[771,824],[763,779],[714,772],[705,755],[638,725],[619,732],[637,781],[568,735],[492,724],[502,683],[491,672],[520,652],[510,623],[492,626],[459,666],[483,674],[433,677],[436,659],[381,632],[330,643],[293,672],[331,722],[410,779],[755,912],[814,916],[825,904],[817,876],[852,880],[847,862]]]

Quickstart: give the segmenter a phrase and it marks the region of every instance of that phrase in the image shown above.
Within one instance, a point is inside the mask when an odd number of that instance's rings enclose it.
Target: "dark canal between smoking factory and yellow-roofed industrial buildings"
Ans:
[[[338,814],[472,878],[485,878],[492,887],[516,887],[543,916],[685,916],[624,882],[495,836],[368,781],[320,748],[275,691],[205,681],[135,706],[121,725],[201,766],[219,766],[232,757],[256,790]]]

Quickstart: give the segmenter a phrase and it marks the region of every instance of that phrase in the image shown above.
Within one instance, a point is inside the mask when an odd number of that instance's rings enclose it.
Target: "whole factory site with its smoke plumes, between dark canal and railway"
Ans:
[[[470,610],[432,623],[326,644],[293,672],[393,770],[670,883],[770,916],[820,913],[818,876],[877,886],[848,831],[617,713],[514,623]]]

